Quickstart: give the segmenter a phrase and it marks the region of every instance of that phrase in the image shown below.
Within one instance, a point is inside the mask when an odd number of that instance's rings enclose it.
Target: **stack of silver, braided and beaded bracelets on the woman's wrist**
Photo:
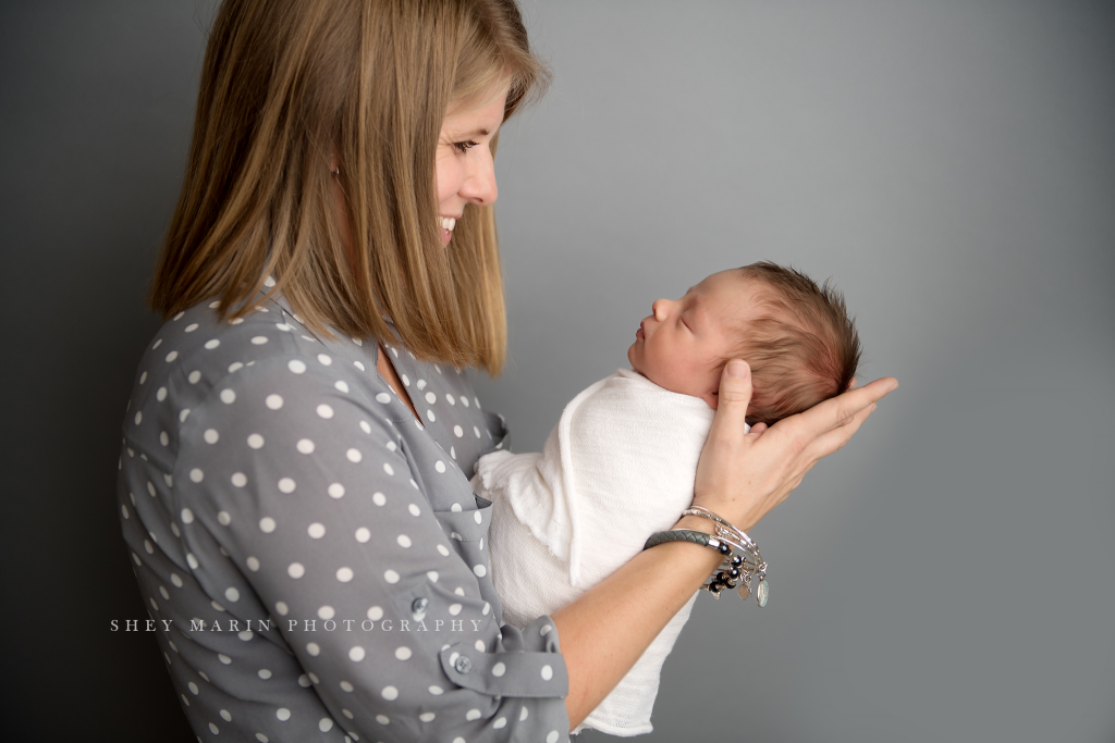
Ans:
[[[767,599],[770,597],[770,584],[766,579],[767,564],[759,555],[758,545],[744,531],[707,508],[695,506],[687,508],[682,514],[715,521],[716,535],[694,529],[658,531],[647,539],[643,549],[650,549],[667,541],[688,541],[715,549],[725,555],[724,563],[701,588],[712,594],[714,598],[720,598],[720,592],[725,588],[736,588],[740,598],[747,598],[752,593],[752,579],[757,577],[758,586],[755,590],[755,600],[759,606],[766,606]]]

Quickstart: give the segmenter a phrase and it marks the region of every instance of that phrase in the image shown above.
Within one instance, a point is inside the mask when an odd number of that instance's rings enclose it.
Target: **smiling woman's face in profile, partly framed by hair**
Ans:
[[[503,124],[506,101],[507,88],[500,87],[478,106],[460,109],[450,104],[445,114],[435,160],[443,245],[453,238],[453,227],[465,204],[488,206],[495,202],[495,163],[489,145]]]

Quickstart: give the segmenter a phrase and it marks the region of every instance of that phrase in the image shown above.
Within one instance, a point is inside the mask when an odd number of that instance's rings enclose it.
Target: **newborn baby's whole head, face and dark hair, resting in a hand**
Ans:
[[[843,295],[793,268],[753,263],[712,274],[680,300],[658,300],[628,349],[631,366],[717,407],[724,364],[752,368],[747,422],[774,422],[847,390],[860,336]]]

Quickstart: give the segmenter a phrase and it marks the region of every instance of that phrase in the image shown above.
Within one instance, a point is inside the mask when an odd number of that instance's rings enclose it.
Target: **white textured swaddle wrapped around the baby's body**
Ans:
[[[483,457],[473,487],[494,504],[488,545],[504,622],[523,626],[552,614],[673,526],[692,502],[714,417],[700,398],[621,369],[566,405],[541,454]],[[611,735],[653,730],[662,663],[694,598],[581,727]]]

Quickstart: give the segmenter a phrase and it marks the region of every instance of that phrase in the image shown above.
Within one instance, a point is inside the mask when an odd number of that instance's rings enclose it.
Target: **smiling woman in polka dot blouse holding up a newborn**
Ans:
[[[119,478],[200,737],[565,740],[719,563],[500,626],[465,473],[505,432],[460,370],[503,362],[493,156],[542,81],[512,0],[222,6]],[[729,363],[695,502],[750,528],[895,385],[744,436]]]

